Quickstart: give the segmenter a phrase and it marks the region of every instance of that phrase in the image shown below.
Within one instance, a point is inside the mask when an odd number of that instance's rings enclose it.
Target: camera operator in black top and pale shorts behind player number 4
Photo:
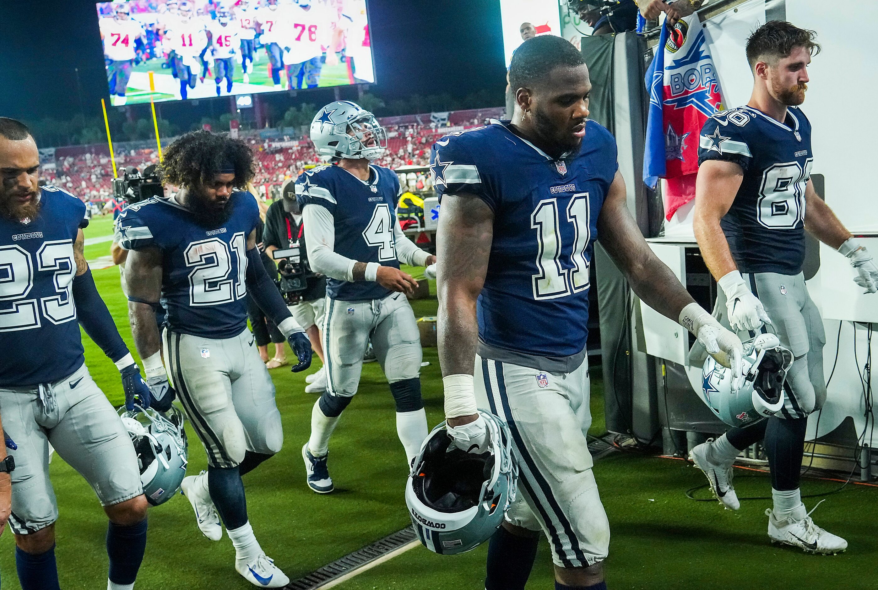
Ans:
[[[269,211],[265,215],[263,244],[265,251],[272,255],[277,249],[290,248],[297,243],[299,244],[299,260],[307,265],[302,212],[299,210],[299,203],[296,202],[295,178],[290,178],[281,187],[281,198],[277,198],[270,205]],[[277,261],[278,268],[283,270],[286,263],[285,259]],[[301,291],[301,301],[290,306],[290,313],[299,322],[299,325],[305,328],[305,332],[311,340],[311,348],[317,356],[320,356],[320,361],[325,363],[320,330],[323,326],[327,279],[322,275],[309,273],[306,282],[306,289]],[[309,379],[310,382],[305,388],[306,392],[321,393],[326,391],[327,375],[324,367],[320,367],[320,371],[306,378],[306,380]]]

